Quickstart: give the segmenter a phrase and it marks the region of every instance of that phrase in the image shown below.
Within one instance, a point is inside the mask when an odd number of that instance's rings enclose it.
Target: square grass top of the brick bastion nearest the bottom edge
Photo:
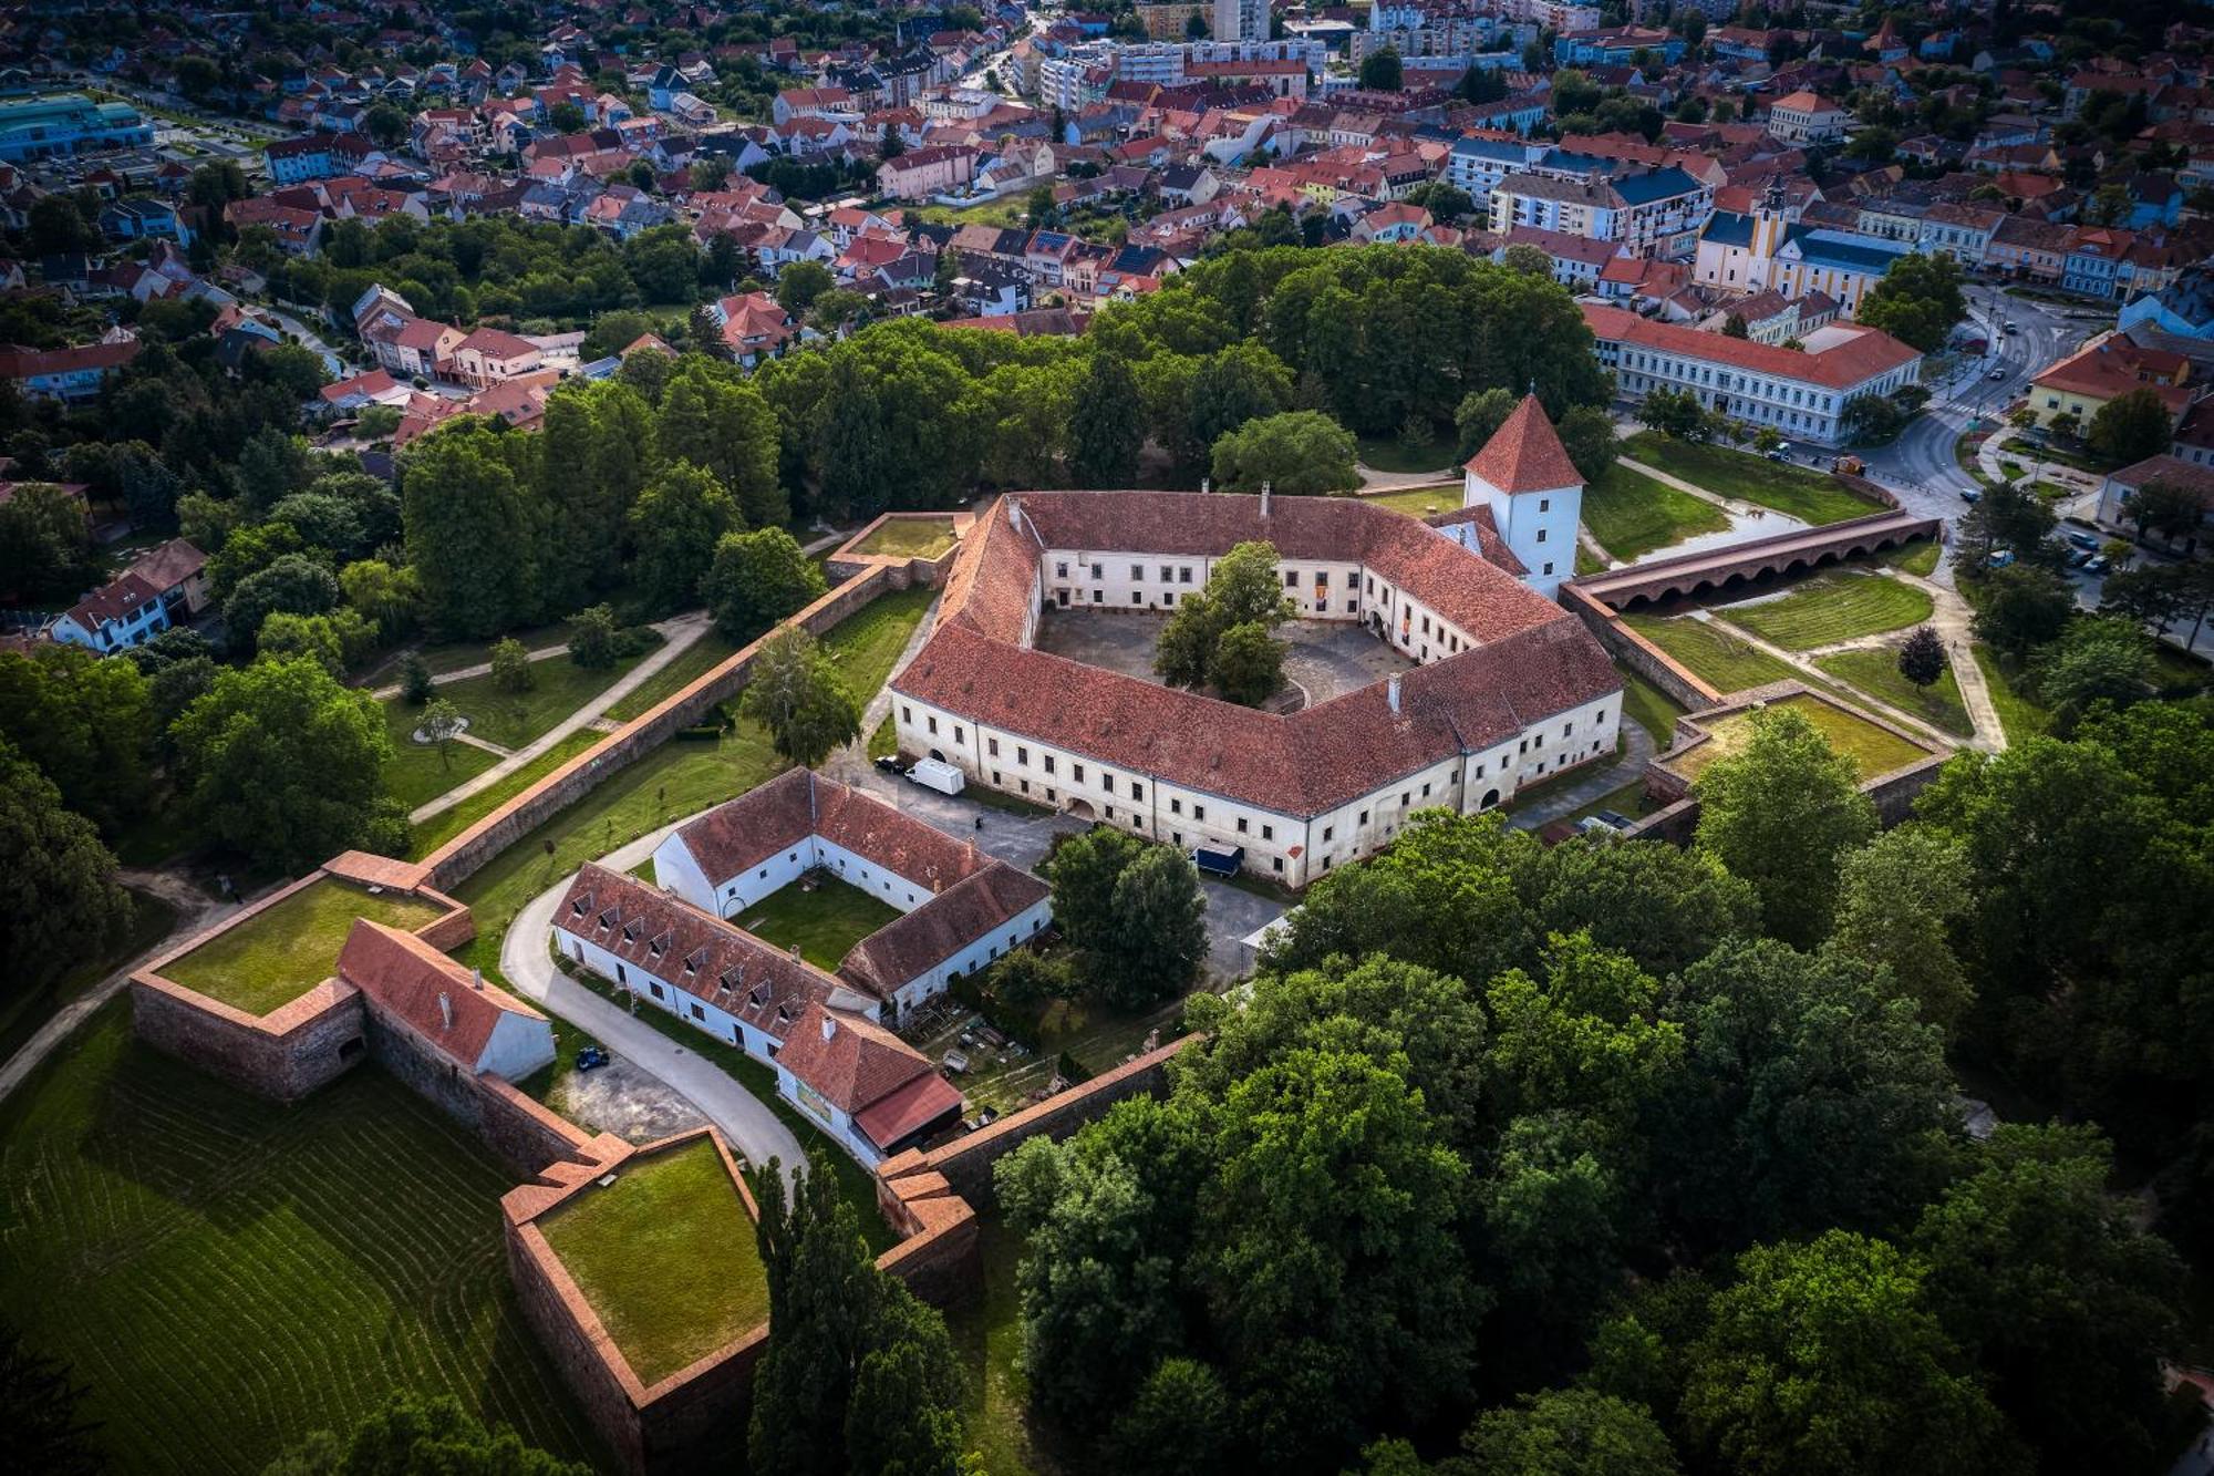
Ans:
[[[649,1387],[768,1316],[753,1219],[704,1137],[631,1159],[538,1228]]]

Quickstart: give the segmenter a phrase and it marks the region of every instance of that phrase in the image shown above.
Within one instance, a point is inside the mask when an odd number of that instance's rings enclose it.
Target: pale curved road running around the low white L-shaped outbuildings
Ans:
[[[691,816],[640,836],[627,847],[602,855],[600,864],[611,871],[629,871],[653,855],[653,847],[669,831],[689,820]],[[793,1130],[784,1126],[784,1119],[766,1101],[739,1086],[737,1077],[697,1050],[686,1050],[669,1039],[653,1022],[633,1017],[620,1004],[596,995],[554,966],[547,937],[554,926],[554,909],[560,906],[565,891],[569,891],[569,878],[531,898],[516,913],[514,922],[507,924],[507,935],[500,940],[500,975],[520,995],[589,1033],[624,1062],[658,1077],[706,1113],[708,1121],[722,1128],[722,1135],[731,1139],[731,1148],[744,1155],[746,1161],[766,1164],[768,1159],[779,1159],[795,1175],[806,1172],[806,1152],[799,1139],[793,1137]]]

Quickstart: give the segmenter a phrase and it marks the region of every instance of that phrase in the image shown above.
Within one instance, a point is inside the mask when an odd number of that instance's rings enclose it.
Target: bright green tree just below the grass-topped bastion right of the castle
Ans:
[[[1698,844],[1760,893],[1769,933],[1813,946],[1829,931],[1838,855],[1875,831],[1853,760],[1791,709],[1749,718],[1738,754],[1691,782]]]

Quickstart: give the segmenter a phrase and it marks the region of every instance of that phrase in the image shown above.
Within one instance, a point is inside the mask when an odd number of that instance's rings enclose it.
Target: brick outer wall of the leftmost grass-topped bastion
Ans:
[[[148,1046],[275,1101],[299,1101],[365,1055],[361,995],[337,980],[255,1017],[137,973],[131,1028]]]

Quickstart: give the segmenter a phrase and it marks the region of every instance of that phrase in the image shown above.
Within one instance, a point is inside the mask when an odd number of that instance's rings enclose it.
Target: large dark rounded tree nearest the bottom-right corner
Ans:
[[[2001,1126],[1922,1210],[1931,1310],[1990,1378],[2037,1469],[2154,1472],[2176,1449],[2161,1359],[2181,1265],[2108,1192],[2092,1126]]]

